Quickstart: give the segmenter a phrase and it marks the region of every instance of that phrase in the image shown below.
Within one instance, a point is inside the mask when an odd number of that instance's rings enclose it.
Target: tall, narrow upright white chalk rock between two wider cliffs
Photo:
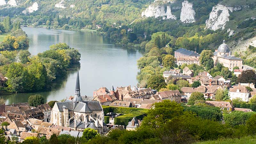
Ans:
[[[182,2],[182,8],[180,12],[180,21],[183,23],[193,23],[195,22],[196,12],[193,9],[193,4],[188,1]]]

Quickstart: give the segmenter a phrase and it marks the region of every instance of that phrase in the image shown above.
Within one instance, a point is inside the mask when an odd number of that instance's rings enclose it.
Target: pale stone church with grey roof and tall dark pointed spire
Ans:
[[[80,95],[79,72],[77,70],[75,96],[72,100],[55,102],[51,112],[51,123],[83,131],[93,128],[99,132],[104,124],[104,112],[99,101],[84,101]]]

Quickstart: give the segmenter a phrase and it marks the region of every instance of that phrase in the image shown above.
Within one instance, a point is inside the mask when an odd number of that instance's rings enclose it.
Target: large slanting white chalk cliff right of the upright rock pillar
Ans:
[[[210,13],[209,19],[206,20],[206,28],[212,30],[224,29],[225,25],[229,21],[229,11],[241,10],[241,7],[227,7],[225,5],[215,5],[212,7],[212,12]]]

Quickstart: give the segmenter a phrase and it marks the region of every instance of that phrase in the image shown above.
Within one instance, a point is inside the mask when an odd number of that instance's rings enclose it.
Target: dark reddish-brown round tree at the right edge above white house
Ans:
[[[256,74],[252,69],[243,71],[237,78],[238,83],[256,83]]]

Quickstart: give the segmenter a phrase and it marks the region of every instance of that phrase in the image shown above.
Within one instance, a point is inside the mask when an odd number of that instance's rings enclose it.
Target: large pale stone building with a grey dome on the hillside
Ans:
[[[229,51],[229,47],[226,44],[225,40],[223,40],[223,44],[220,44],[218,49],[215,50],[212,59],[214,60],[214,65],[216,65],[217,63],[221,63],[230,71],[232,71],[234,67],[239,67],[239,69],[243,68],[243,60],[231,55],[231,52]]]

